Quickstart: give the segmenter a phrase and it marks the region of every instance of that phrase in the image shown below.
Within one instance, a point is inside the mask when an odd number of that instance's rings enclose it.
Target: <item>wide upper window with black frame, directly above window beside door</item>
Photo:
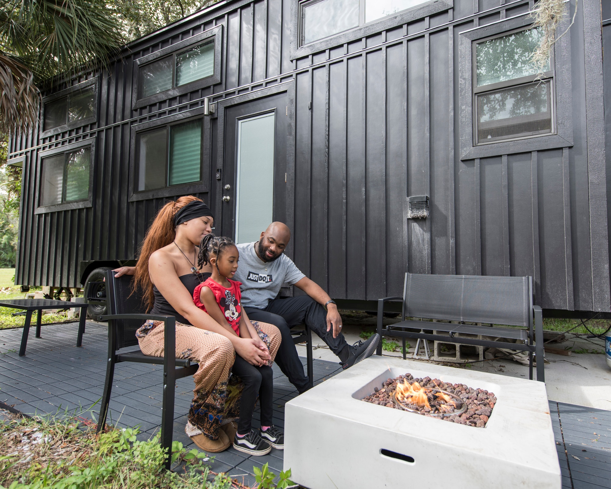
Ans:
[[[133,108],[219,83],[221,38],[218,26],[137,59]]]

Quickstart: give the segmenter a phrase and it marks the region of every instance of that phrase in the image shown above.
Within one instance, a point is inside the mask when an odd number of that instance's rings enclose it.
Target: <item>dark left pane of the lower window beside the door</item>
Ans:
[[[166,186],[167,127],[139,135],[138,190]]]

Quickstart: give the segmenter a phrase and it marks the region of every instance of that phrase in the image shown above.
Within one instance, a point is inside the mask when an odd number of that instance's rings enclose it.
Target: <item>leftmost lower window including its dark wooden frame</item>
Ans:
[[[90,207],[94,155],[95,138],[40,153],[35,213]]]

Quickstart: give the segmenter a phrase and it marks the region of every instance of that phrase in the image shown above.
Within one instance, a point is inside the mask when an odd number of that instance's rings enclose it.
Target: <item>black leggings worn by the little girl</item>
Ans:
[[[257,395],[261,405],[261,425],[271,426],[274,410],[274,375],[271,367],[255,367],[236,354],[231,371],[244,383],[240,399],[238,433],[246,435],[251,431],[252,412],[255,410]]]

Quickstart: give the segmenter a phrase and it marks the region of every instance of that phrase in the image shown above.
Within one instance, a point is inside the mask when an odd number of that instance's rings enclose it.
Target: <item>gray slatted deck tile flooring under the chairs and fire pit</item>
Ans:
[[[78,323],[51,325],[42,338],[29,338],[26,356],[16,353],[21,329],[0,330],[0,401],[27,414],[57,410],[88,410],[102,395],[106,372],[106,326],[87,323],[83,347],[74,345]],[[15,351],[11,351],[15,350]],[[302,359],[305,364],[305,359]],[[121,427],[139,425],[140,438],[159,430],[161,422],[161,366],[119,363],[115,367],[109,422]],[[334,362],[314,361],[315,384],[340,372]],[[191,378],[177,381],[174,439],[194,447],[185,434],[186,413],[193,395]],[[284,427],[284,406],[297,391],[274,365],[274,423]],[[611,487],[611,411],[562,402],[549,402],[562,487],[598,489]],[[97,419],[98,406],[93,406]],[[91,412],[81,416],[92,416]],[[254,423],[258,426],[259,413]],[[566,450],[566,453],[565,453]],[[585,450],[585,451],[584,451]],[[273,472],[282,469],[282,450],[265,457],[246,457],[233,448],[216,454],[212,470],[228,472],[247,485],[254,484],[253,466],[268,463]],[[579,460],[577,460],[577,458]]]

